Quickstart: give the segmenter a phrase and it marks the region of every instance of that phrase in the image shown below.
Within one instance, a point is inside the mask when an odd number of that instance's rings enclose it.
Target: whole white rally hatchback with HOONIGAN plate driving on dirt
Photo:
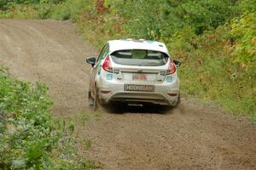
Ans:
[[[181,63],[172,59],[164,43],[113,40],[86,62],[92,65],[88,98],[94,110],[99,102],[177,105]]]

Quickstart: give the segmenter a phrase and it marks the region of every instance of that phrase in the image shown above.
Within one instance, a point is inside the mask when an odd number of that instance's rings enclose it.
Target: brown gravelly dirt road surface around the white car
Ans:
[[[0,20],[0,63],[23,80],[47,83],[55,116],[88,110],[84,56],[95,54],[69,21]],[[119,110],[81,127],[93,141],[86,154],[105,169],[256,169],[256,126],[244,116],[189,99],[166,113]]]

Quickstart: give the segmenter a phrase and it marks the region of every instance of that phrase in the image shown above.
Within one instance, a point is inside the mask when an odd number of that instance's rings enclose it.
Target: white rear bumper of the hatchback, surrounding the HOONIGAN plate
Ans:
[[[172,83],[162,82],[154,85],[154,92],[125,91],[125,83],[117,81],[103,81],[99,86],[99,99],[103,104],[120,101],[127,103],[153,103],[156,105],[177,105],[179,95],[179,80]],[[131,83],[130,83],[131,84]],[[137,84],[137,83],[135,83]],[[106,91],[109,93],[106,94]],[[102,93],[105,92],[105,93]],[[172,94],[172,95],[170,95]],[[174,95],[177,94],[177,95]]]

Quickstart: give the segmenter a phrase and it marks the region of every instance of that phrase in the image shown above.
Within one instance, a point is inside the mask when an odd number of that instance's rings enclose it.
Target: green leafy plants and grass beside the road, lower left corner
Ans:
[[[51,116],[47,91],[40,82],[21,82],[0,68],[0,169],[102,168],[81,153],[92,142],[74,135],[78,120]]]

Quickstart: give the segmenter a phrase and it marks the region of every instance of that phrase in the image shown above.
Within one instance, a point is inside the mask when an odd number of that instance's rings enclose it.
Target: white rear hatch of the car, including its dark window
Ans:
[[[162,52],[131,49],[111,55],[114,78],[131,84],[158,84],[164,81],[169,56]]]

